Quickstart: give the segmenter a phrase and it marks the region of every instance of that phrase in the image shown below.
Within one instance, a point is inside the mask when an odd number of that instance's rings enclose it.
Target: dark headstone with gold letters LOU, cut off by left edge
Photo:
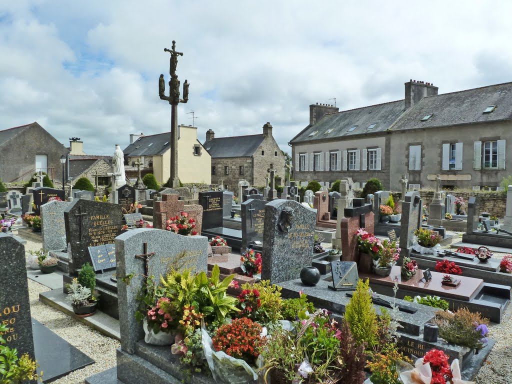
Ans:
[[[12,236],[0,233],[0,321],[8,331],[6,346],[34,359],[25,247]]]

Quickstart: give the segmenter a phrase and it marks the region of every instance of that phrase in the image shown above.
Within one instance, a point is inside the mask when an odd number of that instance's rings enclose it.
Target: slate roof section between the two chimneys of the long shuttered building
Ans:
[[[403,112],[404,100],[398,100],[330,113],[322,117],[316,124],[308,125],[291,139],[290,143],[384,132],[389,129]],[[371,124],[376,125],[368,129]],[[354,126],[355,129],[350,131],[351,127]],[[329,130],[331,132],[328,132]],[[316,134],[309,136],[314,131],[317,131]]]

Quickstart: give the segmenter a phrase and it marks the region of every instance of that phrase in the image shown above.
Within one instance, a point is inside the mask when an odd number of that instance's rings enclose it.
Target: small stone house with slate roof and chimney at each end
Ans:
[[[272,125],[263,125],[263,134],[233,137],[215,137],[206,132],[203,146],[211,155],[211,180],[236,190],[240,179],[250,185],[265,186],[268,169],[284,179],[285,157],[272,136]]]

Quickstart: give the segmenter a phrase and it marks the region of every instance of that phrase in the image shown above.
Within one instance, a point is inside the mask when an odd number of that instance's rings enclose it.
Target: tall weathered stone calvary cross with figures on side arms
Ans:
[[[183,84],[183,99],[180,99],[180,80],[176,74],[176,67],[178,66],[178,56],[183,56],[183,52],[176,51],[176,41],[173,40],[171,49],[164,48],[164,52],[170,53],[169,62],[169,96],[165,96],[165,80],[163,74],[160,75],[158,80],[158,95],[161,100],[168,101],[171,105],[170,110],[170,183],[171,187],[176,188],[180,186],[178,180],[178,104],[186,103],[188,101],[188,86],[190,85],[187,80]]]

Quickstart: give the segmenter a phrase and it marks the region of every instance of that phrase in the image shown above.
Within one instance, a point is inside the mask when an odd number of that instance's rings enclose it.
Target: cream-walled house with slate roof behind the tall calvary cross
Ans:
[[[197,139],[197,127],[178,125],[178,177],[182,183],[211,183],[211,156]],[[138,139],[135,137],[138,136]],[[125,164],[141,174],[152,173],[160,184],[170,177],[170,132],[157,135],[130,135],[130,145],[124,148]]]

